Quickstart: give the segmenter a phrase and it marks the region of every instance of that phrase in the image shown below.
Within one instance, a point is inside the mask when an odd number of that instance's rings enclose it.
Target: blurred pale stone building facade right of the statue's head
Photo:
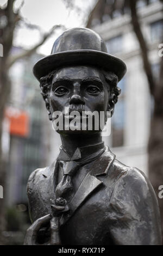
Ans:
[[[163,29],[162,4],[157,0],[148,1],[148,4],[141,0],[137,1],[137,9],[156,78],[159,74],[158,52]],[[109,20],[109,16],[104,15],[100,23],[95,14],[89,26],[105,40],[108,52],[123,59],[127,65],[127,74],[118,83],[122,92],[111,119],[111,135],[104,137],[104,141],[118,160],[128,166],[136,166],[147,174],[152,99],[128,10],[123,15],[115,11],[113,16]]]

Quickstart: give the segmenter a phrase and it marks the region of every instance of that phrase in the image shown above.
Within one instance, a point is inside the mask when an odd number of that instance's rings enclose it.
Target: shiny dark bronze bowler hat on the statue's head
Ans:
[[[114,72],[118,81],[126,73],[126,64],[109,54],[104,40],[88,28],[64,31],[54,42],[51,55],[40,59],[33,68],[37,80],[62,66],[90,65]]]

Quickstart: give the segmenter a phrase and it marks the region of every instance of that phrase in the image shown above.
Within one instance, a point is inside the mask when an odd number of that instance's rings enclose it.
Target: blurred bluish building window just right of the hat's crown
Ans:
[[[106,41],[108,53],[116,53],[122,51],[122,35],[115,36],[114,38]]]

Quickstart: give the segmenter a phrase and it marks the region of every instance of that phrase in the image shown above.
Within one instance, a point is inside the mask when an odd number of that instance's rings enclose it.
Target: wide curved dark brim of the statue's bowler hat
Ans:
[[[105,52],[95,50],[73,50],[51,54],[40,59],[33,68],[37,80],[62,66],[91,65],[114,72],[118,81],[127,71],[126,64],[119,58]]]

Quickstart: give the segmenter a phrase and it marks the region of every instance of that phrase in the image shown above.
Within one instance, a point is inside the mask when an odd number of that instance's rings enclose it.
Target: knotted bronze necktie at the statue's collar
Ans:
[[[55,189],[55,196],[56,198],[65,198],[66,200],[69,200],[73,193],[72,177],[79,169],[80,164],[75,161],[59,162],[64,171],[64,176]]]

